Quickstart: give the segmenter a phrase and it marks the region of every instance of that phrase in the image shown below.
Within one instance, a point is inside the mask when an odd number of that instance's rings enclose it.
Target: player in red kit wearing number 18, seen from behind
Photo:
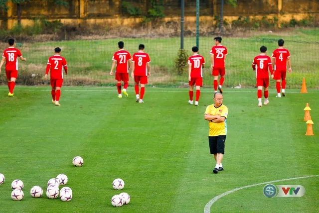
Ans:
[[[13,89],[15,86],[15,80],[18,77],[18,57],[22,61],[26,61],[26,58],[22,57],[20,50],[14,48],[15,41],[13,38],[8,40],[9,48],[5,49],[2,54],[2,60],[0,63],[0,73],[1,67],[5,61],[5,74],[8,80],[9,97],[13,97]]]

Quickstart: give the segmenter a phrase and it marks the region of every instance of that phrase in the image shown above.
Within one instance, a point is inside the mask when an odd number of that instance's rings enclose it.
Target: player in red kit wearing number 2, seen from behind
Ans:
[[[61,96],[61,87],[63,84],[63,68],[65,71],[65,75],[68,74],[68,67],[65,58],[60,56],[61,49],[56,47],[54,49],[54,56],[51,56],[48,60],[48,64],[46,66],[44,79],[48,79],[48,73],[50,73],[50,81],[51,81],[51,95],[52,95],[52,103],[55,106],[61,106],[59,103]]]

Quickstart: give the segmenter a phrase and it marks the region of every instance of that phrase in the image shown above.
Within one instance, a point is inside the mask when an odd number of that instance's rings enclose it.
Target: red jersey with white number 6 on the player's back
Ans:
[[[257,68],[255,66],[257,65]],[[254,58],[253,69],[256,69],[257,79],[267,79],[269,78],[268,68],[270,73],[273,75],[273,67],[271,65],[271,59],[267,55],[258,55]]]

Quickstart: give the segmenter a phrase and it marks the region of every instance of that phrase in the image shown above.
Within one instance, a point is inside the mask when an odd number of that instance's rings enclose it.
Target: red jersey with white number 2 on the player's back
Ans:
[[[48,74],[51,69],[51,79],[63,79],[63,68],[65,70],[65,73],[67,74],[68,67],[65,58],[60,55],[54,55],[51,56],[48,60],[45,74]]]

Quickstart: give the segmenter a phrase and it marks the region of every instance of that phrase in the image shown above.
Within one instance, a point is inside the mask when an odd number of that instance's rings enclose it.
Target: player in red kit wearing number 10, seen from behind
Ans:
[[[198,55],[198,47],[191,48],[193,55],[188,58],[188,81],[189,81],[189,104],[193,104],[193,90],[196,84],[196,100],[195,106],[198,106],[200,96],[200,87],[203,86],[203,73],[205,60],[204,57]]]

